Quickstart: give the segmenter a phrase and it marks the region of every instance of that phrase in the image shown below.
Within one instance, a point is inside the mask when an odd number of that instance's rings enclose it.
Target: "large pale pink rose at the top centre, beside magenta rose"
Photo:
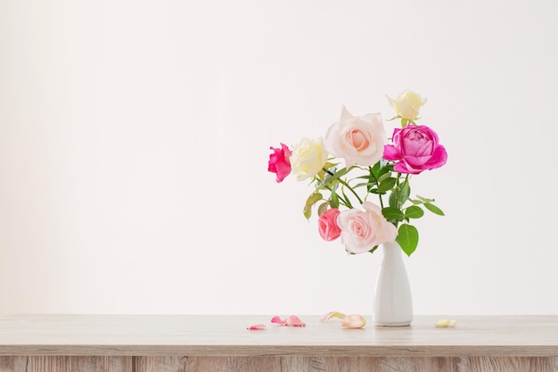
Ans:
[[[382,114],[353,116],[343,106],[341,119],[332,124],[325,135],[325,149],[333,156],[345,159],[347,167],[373,165],[382,158],[387,143]]]

